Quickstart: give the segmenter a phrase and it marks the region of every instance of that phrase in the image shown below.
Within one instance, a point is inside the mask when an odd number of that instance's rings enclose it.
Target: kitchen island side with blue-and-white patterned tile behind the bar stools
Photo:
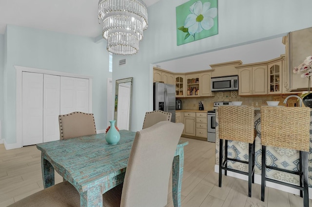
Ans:
[[[312,152],[312,112],[310,112],[310,152]],[[218,113],[216,111],[216,122],[218,123]],[[255,108],[254,110],[254,127],[256,129],[256,138],[255,138],[255,162],[254,162],[254,174],[255,179],[254,182],[261,184],[261,117],[260,117],[260,108]],[[248,161],[248,143],[237,142],[237,141],[229,141],[228,142],[228,155],[231,158],[241,159]],[[278,147],[270,147],[267,146],[267,165],[275,166],[278,168],[284,168],[287,170],[295,171],[298,170],[299,165],[299,151],[283,149]],[[239,163],[239,162],[228,162],[228,167],[243,170],[248,172],[248,165]],[[215,172],[218,173],[219,168],[219,128],[218,124],[216,124],[215,129]],[[274,170],[267,171],[267,177],[272,179],[281,180],[285,182],[289,182],[295,185],[299,185],[299,176],[284,173]],[[232,172],[228,172],[228,175],[235,176],[239,178],[243,178],[243,175],[235,174]],[[247,179],[247,177],[246,177]],[[267,186],[277,188],[279,190],[284,190],[288,192],[292,192],[295,194],[299,193],[299,190],[295,190],[289,187],[283,186],[279,188],[278,184],[273,184],[267,182]],[[312,155],[309,153],[309,188],[312,188]],[[311,190],[310,190],[311,191]]]

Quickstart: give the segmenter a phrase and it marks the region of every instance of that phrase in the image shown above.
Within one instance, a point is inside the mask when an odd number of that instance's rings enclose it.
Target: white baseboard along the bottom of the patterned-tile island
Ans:
[[[215,173],[219,173],[219,165],[215,165]],[[224,174],[224,170],[222,171],[222,174]],[[228,171],[227,176],[235,177],[242,180],[248,180],[248,176],[240,173],[234,173],[231,171]],[[254,183],[261,185],[261,175],[260,174],[254,174]],[[273,183],[270,181],[266,181],[266,187],[282,190],[285,192],[289,192],[295,195],[300,195],[300,190],[294,189],[288,186],[280,185],[277,183]],[[312,188],[309,188],[309,198],[312,198]]]

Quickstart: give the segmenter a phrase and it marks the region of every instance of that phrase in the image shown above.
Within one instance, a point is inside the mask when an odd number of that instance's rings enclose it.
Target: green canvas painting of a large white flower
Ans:
[[[218,0],[190,0],[176,7],[176,44],[218,34]]]

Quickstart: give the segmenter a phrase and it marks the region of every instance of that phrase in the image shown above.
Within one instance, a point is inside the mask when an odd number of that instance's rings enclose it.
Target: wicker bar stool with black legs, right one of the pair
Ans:
[[[308,192],[308,152],[310,143],[309,107],[261,107],[262,173],[261,200],[264,201],[265,181],[285,185],[300,190],[303,206],[309,207]],[[299,151],[299,172],[290,171],[266,164],[266,146],[281,147]],[[275,180],[266,176],[266,170],[299,175],[300,184]],[[303,195],[302,195],[303,191]]]

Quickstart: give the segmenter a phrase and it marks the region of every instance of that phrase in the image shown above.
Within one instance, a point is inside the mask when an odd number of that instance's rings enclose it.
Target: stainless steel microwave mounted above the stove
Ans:
[[[238,75],[211,78],[211,91],[228,90],[238,90]]]

